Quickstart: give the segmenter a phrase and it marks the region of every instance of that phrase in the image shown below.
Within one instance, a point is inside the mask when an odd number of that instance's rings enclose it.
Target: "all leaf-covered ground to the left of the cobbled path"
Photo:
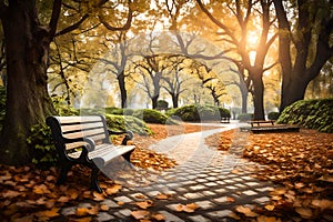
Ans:
[[[199,125],[159,125],[150,124],[154,134],[152,137],[135,135],[133,144],[137,145],[131,160],[134,165],[143,169],[153,169],[162,171],[173,168],[176,163],[174,160],[155,153],[147,148],[169,135],[190,133],[202,130]],[[209,129],[209,128],[206,128]],[[114,143],[120,143],[122,138],[113,138]],[[39,170],[33,165],[13,168],[0,165],[0,221],[48,221],[60,216],[60,209],[67,205],[78,205],[82,200],[103,201],[108,196],[121,192],[122,186],[100,173],[99,181],[104,193],[89,191],[89,170],[84,167],[73,167],[69,173],[65,185],[56,185],[58,170]],[[80,185],[78,185],[80,181]],[[162,200],[169,196],[157,196]],[[119,202],[118,204],[122,204]],[[138,203],[143,211],[133,212],[134,219],[140,219],[147,214],[144,208],[149,202]],[[185,210],[193,206],[184,206]],[[99,212],[108,211],[108,206],[97,204],[93,208],[79,208],[70,221],[90,221]],[[160,214],[150,215],[155,221],[163,220]]]

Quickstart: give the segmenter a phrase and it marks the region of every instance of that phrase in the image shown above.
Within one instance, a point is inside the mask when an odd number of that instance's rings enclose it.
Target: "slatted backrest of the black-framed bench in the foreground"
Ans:
[[[49,117],[47,124],[51,128],[57,149],[71,151],[87,143],[83,138],[91,138],[98,143],[110,143],[107,121],[103,115]],[[67,139],[77,140],[68,142]],[[82,140],[81,140],[82,139]]]

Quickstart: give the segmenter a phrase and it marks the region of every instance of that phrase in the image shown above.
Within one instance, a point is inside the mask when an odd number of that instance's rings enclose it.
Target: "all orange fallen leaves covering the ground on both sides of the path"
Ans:
[[[203,130],[201,127],[158,125],[151,124],[155,132],[153,137],[137,135],[133,162],[141,168],[162,171],[173,168],[174,160],[154,153],[147,148],[172,134],[189,133]],[[265,133],[240,134],[242,132],[226,131],[206,139],[206,143],[228,151],[232,145],[243,148],[243,157],[265,164],[266,168],[249,169],[253,176],[272,181],[282,186],[271,192],[271,202],[264,206],[250,209],[239,205],[231,209],[234,219],[241,221],[333,221],[333,135],[312,130],[301,130],[299,133]],[[115,140],[115,141],[120,141]],[[60,209],[78,205],[82,200],[93,200],[100,204],[91,208],[78,208],[71,221],[91,219],[99,212],[108,211],[102,204],[107,198],[121,192],[122,186],[100,174],[100,184],[104,193],[91,192],[89,175],[82,167],[75,167],[70,172],[65,185],[57,186],[57,170],[47,171],[33,167],[12,168],[0,165],[0,219],[2,221],[48,221],[60,215]],[[80,181],[78,185],[77,181]],[[164,194],[153,201],[169,199]],[[139,211],[133,211],[137,220],[149,218],[152,221],[163,221],[163,215],[151,214],[148,210],[152,200],[138,202]],[[119,202],[118,204],[123,204]],[[176,205],[180,212],[195,213],[196,205]]]

